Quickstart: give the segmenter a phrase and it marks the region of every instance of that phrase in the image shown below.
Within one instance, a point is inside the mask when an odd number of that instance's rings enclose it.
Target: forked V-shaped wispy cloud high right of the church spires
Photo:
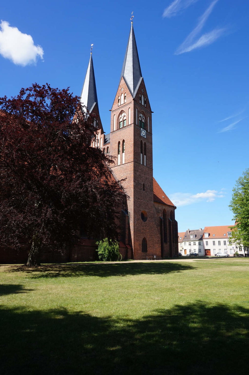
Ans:
[[[226,28],[215,28],[209,33],[203,34],[199,39],[195,42],[194,40],[200,34],[201,30],[203,29],[207,19],[209,18],[210,14],[213,11],[213,8],[218,0],[212,1],[210,6],[206,9],[203,15],[199,18],[198,25],[191,31],[191,33],[186,37],[184,42],[177,48],[175,55],[180,55],[184,52],[190,52],[193,49],[201,48],[203,46],[207,46],[215,42],[226,30]]]

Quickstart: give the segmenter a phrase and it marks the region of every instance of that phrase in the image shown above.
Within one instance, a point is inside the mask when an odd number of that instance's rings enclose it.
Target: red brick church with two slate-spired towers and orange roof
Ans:
[[[96,115],[93,147],[115,156],[113,176],[129,199],[121,210],[120,251],[123,258],[178,257],[176,207],[153,177],[152,111],[142,77],[136,39],[131,30],[118,90],[111,110],[110,133],[105,134],[98,110],[92,54],[81,102]],[[83,241],[83,240],[82,240]],[[82,245],[90,245],[88,241]]]

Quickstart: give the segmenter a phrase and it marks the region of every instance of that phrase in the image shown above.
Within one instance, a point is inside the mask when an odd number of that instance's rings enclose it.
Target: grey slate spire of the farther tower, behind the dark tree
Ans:
[[[95,104],[98,107],[97,90],[95,84],[94,69],[92,63],[92,52],[86,71],[86,77],[81,92],[81,103],[86,106],[88,111],[91,113]]]

